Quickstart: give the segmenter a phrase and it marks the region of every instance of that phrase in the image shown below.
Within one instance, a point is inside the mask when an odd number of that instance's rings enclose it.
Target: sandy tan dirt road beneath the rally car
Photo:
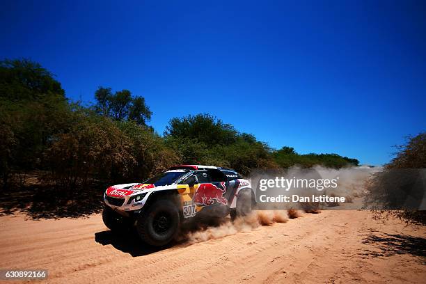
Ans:
[[[370,212],[324,211],[155,251],[86,219],[0,217],[0,268],[42,283],[425,283],[425,228]],[[4,281],[12,283],[12,281]],[[15,282],[15,281],[13,281]]]

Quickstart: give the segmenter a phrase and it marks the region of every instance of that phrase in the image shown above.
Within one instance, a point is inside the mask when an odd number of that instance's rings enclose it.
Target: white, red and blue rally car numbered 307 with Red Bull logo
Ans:
[[[164,246],[184,223],[248,214],[255,197],[250,182],[230,168],[180,165],[142,183],[113,185],[104,203],[109,229],[134,226],[145,243]]]

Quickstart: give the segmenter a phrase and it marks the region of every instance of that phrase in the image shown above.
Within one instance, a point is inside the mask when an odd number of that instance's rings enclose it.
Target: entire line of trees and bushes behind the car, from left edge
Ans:
[[[95,104],[82,107],[66,100],[61,84],[40,64],[0,62],[3,187],[13,173],[34,170],[67,195],[93,182],[143,181],[180,163],[226,166],[247,175],[252,168],[353,162],[338,155],[298,155],[288,147],[274,151],[207,113],[173,118],[159,136],[146,125],[152,112],[143,97],[105,87],[94,95]]]

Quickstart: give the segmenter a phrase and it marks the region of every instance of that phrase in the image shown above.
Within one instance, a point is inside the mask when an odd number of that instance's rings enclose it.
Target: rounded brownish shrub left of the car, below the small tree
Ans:
[[[90,178],[120,180],[136,163],[132,143],[109,118],[76,111],[66,133],[52,136],[45,152],[48,180],[64,188],[87,184]]]

